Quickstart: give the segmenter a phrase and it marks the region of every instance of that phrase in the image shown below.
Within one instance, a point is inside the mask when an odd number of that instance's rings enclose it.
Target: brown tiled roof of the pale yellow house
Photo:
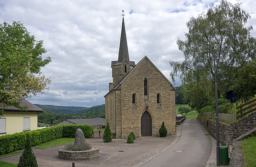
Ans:
[[[8,106],[8,107],[0,106],[0,109],[4,109],[4,111],[36,111],[36,112],[44,111],[43,109],[40,109],[39,107],[37,107],[36,105],[30,103],[29,101],[27,101],[25,99],[20,99],[20,106],[27,107],[27,109],[21,110],[21,109],[18,109],[17,107],[13,107],[13,106]]]

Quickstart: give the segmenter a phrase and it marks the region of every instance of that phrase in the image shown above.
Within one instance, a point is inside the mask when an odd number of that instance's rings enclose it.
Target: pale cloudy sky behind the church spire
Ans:
[[[256,29],[256,1],[242,3]],[[122,10],[131,61],[145,55],[170,80],[169,60],[182,61],[176,45],[186,23],[220,0],[0,0],[0,24],[20,21],[36,40],[44,41],[52,62],[42,73],[52,83],[34,104],[90,107],[105,103],[112,82],[111,61],[118,60]],[[256,31],[251,32],[256,36]],[[170,80],[171,81],[171,80]],[[172,81],[171,81],[172,82]],[[174,86],[179,86],[176,81]]]

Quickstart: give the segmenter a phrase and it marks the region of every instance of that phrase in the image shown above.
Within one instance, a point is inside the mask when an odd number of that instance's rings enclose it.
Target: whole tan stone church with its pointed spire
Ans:
[[[104,96],[106,120],[113,137],[159,136],[164,121],[168,134],[175,134],[176,88],[147,56],[138,64],[130,61],[124,18],[118,60],[111,62],[113,82]]]

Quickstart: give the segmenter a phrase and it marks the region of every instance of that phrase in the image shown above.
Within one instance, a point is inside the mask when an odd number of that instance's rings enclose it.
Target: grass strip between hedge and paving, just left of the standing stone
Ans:
[[[75,138],[60,138],[60,139],[55,139],[52,141],[48,141],[46,143],[42,143],[40,145],[34,146],[35,148],[40,148],[40,149],[46,149],[48,147],[54,147],[57,145],[62,145],[62,144],[67,144],[67,143],[72,143],[75,141]]]

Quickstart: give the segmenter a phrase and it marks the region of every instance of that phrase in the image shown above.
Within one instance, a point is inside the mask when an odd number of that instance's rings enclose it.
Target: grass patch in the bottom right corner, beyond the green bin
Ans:
[[[248,137],[242,140],[244,150],[244,161],[247,167],[256,167],[256,137]]]

